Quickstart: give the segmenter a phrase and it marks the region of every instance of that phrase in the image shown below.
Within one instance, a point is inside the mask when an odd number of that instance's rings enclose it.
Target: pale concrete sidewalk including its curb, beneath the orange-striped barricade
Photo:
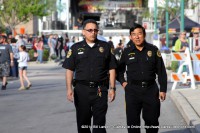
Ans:
[[[171,98],[185,119],[192,133],[200,133],[200,89],[177,89]]]

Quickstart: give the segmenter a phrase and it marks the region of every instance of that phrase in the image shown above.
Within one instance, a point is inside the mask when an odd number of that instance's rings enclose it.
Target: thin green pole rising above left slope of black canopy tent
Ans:
[[[165,17],[166,17],[166,46],[169,47],[169,12],[168,12],[168,5],[169,4],[169,0],[166,0],[166,12],[165,12]]]

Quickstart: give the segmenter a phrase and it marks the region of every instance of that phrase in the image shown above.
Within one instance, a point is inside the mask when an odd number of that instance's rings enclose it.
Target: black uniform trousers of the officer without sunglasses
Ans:
[[[128,133],[140,133],[140,114],[145,122],[147,133],[157,133],[160,116],[159,90],[155,83],[141,87],[128,83],[125,87],[126,117]],[[149,128],[148,128],[149,127]]]

